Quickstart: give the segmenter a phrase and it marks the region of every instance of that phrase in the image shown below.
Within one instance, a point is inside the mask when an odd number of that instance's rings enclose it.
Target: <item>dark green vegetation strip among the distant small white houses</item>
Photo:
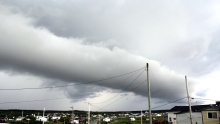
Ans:
[[[35,116],[41,114],[42,116],[42,111],[31,111],[31,110],[0,110],[0,117],[1,118],[10,118],[12,120],[15,120],[17,117],[21,117],[21,115],[24,115],[25,119],[23,121],[8,121],[10,124],[42,124],[41,121],[36,121]],[[60,120],[52,120],[53,113],[56,113],[56,115],[60,116]],[[48,116],[48,121],[45,122],[45,124],[70,124],[70,118],[71,118],[71,113],[72,111],[47,111],[45,115],[50,115]],[[135,112],[91,112],[91,121],[96,121],[97,124],[99,124],[99,115],[101,115],[101,122],[100,124],[140,124],[141,123],[141,117],[135,117],[134,121],[131,121],[130,118],[128,117],[128,113],[135,113]],[[139,113],[137,111],[136,113]],[[127,116],[125,116],[125,114]],[[35,115],[35,116],[34,116]],[[64,115],[64,116],[63,116]],[[86,111],[75,111],[75,116],[80,118],[80,124],[87,124],[87,112]],[[103,118],[109,117],[111,118],[110,122],[104,122]],[[153,116],[154,121],[164,121],[164,118],[166,115],[164,114],[163,116],[157,117],[156,115]],[[146,120],[147,117],[143,116],[142,117],[142,123],[143,124],[148,124],[149,121]]]

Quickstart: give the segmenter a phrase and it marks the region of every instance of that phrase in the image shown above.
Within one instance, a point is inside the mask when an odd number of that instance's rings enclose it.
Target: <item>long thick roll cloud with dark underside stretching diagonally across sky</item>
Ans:
[[[158,74],[155,75],[158,82],[152,83],[153,92],[157,90],[153,97],[165,98],[164,92],[167,93],[167,97],[179,97],[181,92],[179,95],[174,95],[173,92],[184,91],[181,87],[173,91],[169,89],[170,85],[180,86],[184,78],[163,67],[157,61],[131,54],[118,47],[109,49],[96,43],[85,43],[83,39],[57,37],[45,28],[33,26],[32,22],[26,20],[21,13],[15,15],[8,11],[7,14],[1,13],[1,17],[4,18],[0,36],[2,69],[36,74],[64,82],[85,83],[130,72],[144,67],[148,62],[152,71]],[[14,22],[11,18],[17,21]],[[95,85],[124,89],[130,82],[132,83],[134,76],[128,81],[122,79]],[[144,80],[146,80],[146,74],[137,81]],[[117,85],[118,83],[120,85]],[[163,83],[168,85],[160,85]],[[129,89],[126,90],[129,91]],[[146,88],[141,87],[136,93],[145,95],[145,90]]]

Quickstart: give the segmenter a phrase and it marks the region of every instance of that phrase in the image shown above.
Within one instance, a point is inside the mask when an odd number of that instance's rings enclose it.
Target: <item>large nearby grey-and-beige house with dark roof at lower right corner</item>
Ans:
[[[192,122],[195,124],[220,124],[220,102],[191,106]],[[170,124],[190,124],[189,106],[175,106],[167,116]]]

